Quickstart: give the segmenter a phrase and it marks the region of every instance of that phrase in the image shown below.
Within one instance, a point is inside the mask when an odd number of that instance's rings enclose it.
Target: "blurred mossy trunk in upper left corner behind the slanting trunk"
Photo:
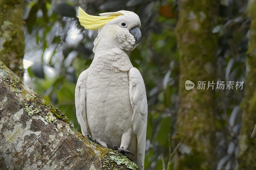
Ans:
[[[0,60],[21,78],[24,73],[23,3],[24,0],[0,1]]]

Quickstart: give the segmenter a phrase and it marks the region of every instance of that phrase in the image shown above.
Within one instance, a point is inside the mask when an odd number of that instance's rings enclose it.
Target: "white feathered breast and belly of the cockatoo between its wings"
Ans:
[[[121,141],[132,127],[128,72],[92,67],[86,82],[86,112],[92,136]]]

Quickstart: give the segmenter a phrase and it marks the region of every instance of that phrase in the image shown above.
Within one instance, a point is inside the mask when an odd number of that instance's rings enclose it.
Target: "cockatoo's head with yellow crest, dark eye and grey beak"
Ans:
[[[94,41],[94,50],[97,44],[111,48],[133,50],[141,39],[140,18],[131,11],[117,11],[101,13],[92,16],[78,8],[79,22],[85,29],[98,30],[98,37]]]

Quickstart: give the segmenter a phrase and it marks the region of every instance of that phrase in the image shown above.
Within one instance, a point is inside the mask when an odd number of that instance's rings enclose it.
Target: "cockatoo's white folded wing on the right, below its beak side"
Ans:
[[[133,109],[133,132],[137,135],[137,162],[141,164],[141,167],[144,167],[148,117],[146,89],[143,78],[137,68],[131,68],[128,76],[130,100]]]

